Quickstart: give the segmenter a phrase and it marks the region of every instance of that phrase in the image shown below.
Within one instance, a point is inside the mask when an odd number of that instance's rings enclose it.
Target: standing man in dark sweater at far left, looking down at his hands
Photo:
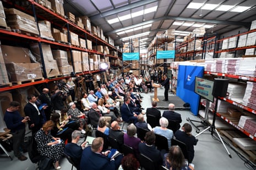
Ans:
[[[25,161],[26,156],[21,154],[19,148],[21,147],[23,152],[28,151],[24,143],[25,137],[25,123],[29,120],[29,117],[21,117],[18,112],[20,103],[18,101],[12,101],[4,114],[4,121],[6,126],[10,129],[10,133],[13,135],[13,153],[18,157],[20,161]]]

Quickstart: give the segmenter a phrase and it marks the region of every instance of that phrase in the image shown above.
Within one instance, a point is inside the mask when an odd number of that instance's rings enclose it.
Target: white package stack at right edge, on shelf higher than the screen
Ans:
[[[237,75],[242,76],[255,76],[255,67],[256,67],[256,58],[241,58],[239,63],[239,69],[236,73]]]

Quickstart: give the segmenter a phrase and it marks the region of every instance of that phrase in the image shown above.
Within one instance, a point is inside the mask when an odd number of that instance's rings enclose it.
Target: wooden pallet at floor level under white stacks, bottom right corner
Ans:
[[[240,131],[220,131],[220,134],[223,135],[224,137],[226,137],[226,139],[230,140],[232,145],[239,152],[243,153],[243,155],[246,156],[248,158],[248,160],[252,161],[253,163],[256,163],[256,150],[245,150],[233,142],[233,138],[247,137],[245,134],[243,134]]]

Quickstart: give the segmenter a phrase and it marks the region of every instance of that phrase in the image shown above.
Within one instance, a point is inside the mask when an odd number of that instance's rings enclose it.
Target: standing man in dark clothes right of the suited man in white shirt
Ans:
[[[45,111],[45,116],[46,120],[50,120],[51,114],[52,114],[52,103],[51,103],[51,98],[48,95],[49,89],[44,88],[42,90],[42,94],[39,95],[39,99],[41,100],[42,104],[47,104],[47,108],[44,110]]]

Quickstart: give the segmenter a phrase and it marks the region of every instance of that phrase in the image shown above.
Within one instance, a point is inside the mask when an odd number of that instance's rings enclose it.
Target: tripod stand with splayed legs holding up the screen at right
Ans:
[[[224,146],[224,148],[225,148],[225,150],[226,150],[228,156],[229,156],[230,158],[232,158],[232,156],[230,155],[230,152],[227,150],[227,147],[226,147],[224,141],[222,140],[222,138],[221,138],[219,132],[218,132],[217,129],[215,128],[215,120],[216,120],[217,106],[218,106],[218,98],[216,98],[216,103],[215,103],[215,108],[214,108],[213,124],[212,124],[212,125],[209,125],[208,128],[204,129],[204,131],[202,131],[202,132],[198,133],[197,135],[195,135],[195,137],[198,137],[199,135],[203,134],[205,131],[208,131],[208,129],[211,128],[211,135],[214,134],[214,131],[216,132],[216,134],[218,135],[218,137],[219,137],[219,139],[220,139],[222,145]]]

